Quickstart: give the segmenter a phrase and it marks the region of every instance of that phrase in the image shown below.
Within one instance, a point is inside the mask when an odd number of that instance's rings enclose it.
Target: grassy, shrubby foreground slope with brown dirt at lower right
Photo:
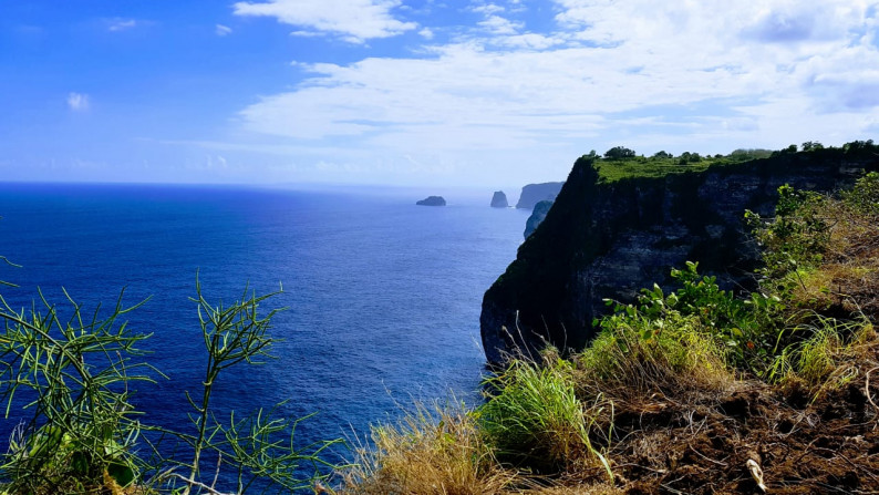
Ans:
[[[582,352],[523,350],[486,404],[375,427],[341,493],[873,493],[879,175],[779,198],[746,214],[757,290],[689,262],[675,290],[609,301]]]

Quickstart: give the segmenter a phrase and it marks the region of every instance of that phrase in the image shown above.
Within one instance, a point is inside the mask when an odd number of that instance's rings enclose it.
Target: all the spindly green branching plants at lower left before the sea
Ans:
[[[273,417],[275,410],[260,409],[244,417],[232,413],[225,423],[211,412],[213,386],[220,372],[270,358],[273,339],[268,329],[278,310],[261,316],[258,308],[277,292],[260,297],[247,292],[230,306],[215,307],[196,285],[193,300],[198,305],[207,365],[200,399],[195,401],[187,392],[194,434],[141,424],[141,413],[131,401],[130,383],[152,382],[161,375],[147,363],[133,361],[143,355],[139,344],[149,336],[120,322],[143,302],[125,307],[120,296],[108,317],[99,318],[96,310],[86,319],[68,297],[73,316],[62,321],[44,299],[43,312],[35,308],[15,312],[3,301],[0,399],[6,402],[6,417],[22,402],[30,414],[0,462],[0,479],[8,483],[3,489],[54,494],[136,485],[133,489],[138,493],[217,493],[207,482],[220,468],[236,475],[236,493],[256,486],[289,493],[323,478],[322,471],[332,466],[321,454],[334,442],[297,446],[294,432],[301,420]],[[177,439],[188,448],[163,458],[153,441],[142,435],[147,431]],[[219,461],[216,472],[203,476],[207,453]],[[302,474],[304,466],[310,466],[310,474]]]

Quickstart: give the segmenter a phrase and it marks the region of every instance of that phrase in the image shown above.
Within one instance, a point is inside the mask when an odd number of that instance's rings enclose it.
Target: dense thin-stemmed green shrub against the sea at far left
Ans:
[[[141,305],[124,307],[120,296],[110,317],[86,319],[68,299],[66,321],[45,299],[44,313],[15,312],[2,301],[0,398],[6,417],[19,394],[30,414],[0,464],[12,493],[45,493],[73,481],[100,486],[104,471],[124,486],[137,472],[132,446],[139,424],[127,385],[151,381],[141,373],[148,367],[132,362],[148,336],[118,320]]]

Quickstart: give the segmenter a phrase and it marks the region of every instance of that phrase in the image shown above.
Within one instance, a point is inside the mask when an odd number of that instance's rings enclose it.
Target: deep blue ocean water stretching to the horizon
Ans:
[[[30,306],[62,288],[87,311],[146,305],[130,326],[154,333],[151,363],[172,380],[138,384],[144,422],[179,426],[185,390],[199,391],[205,353],[196,272],[208,300],[245,285],[283,293],[277,360],[230,369],[215,403],[239,412],[288,401],[281,414],[317,415],[302,442],[365,435],[413,400],[454,393],[479,401],[479,307],[515,258],[527,213],[488,207],[490,192],[446,193],[448,206],[415,206],[424,192],[283,190],[207,186],[0,184],[0,293]],[[18,419],[3,420],[8,431]]]

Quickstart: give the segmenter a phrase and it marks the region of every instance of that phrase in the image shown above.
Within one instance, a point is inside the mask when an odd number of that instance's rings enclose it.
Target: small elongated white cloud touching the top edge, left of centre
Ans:
[[[268,0],[237,2],[238,16],[273,17],[286,24],[340,34],[350,42],[389,38],[417,28],[394,18],[401,0]]]

